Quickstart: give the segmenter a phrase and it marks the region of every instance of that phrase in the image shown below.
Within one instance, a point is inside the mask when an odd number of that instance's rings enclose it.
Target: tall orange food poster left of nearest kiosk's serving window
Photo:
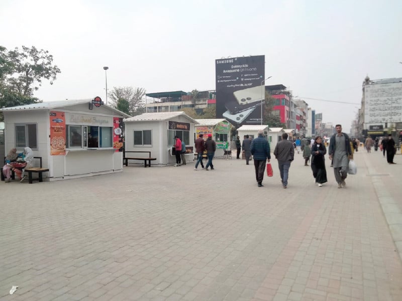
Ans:
[[[64,112],[50,111],[50,155],[66,154],[66,119]]]

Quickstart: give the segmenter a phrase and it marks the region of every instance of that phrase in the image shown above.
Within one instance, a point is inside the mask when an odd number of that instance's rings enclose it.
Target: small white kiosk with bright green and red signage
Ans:
[[[230,130],[232,124],[225,118],[220,119],[195,119],[198,124],[195,125],[195,139],[202,133],[204,140],[207,140],[207,135],[212,134],[215,140],[217,150],[214,157],[224,156],[224,151],[230,150]]]

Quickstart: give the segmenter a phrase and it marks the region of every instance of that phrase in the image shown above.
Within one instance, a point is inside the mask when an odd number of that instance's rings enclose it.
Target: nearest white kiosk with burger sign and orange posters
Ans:
[[[123,171],[123,137],[116,128],[121,128],[123,117],[129,116],[126,113],[101,101],[95,106],[89,99],[41,102],[0,111],[5,121],[6,153],[13,147],[17,153],[31,147],[35,157],[42,157],[42,167],[49,169],[45,180]]]

